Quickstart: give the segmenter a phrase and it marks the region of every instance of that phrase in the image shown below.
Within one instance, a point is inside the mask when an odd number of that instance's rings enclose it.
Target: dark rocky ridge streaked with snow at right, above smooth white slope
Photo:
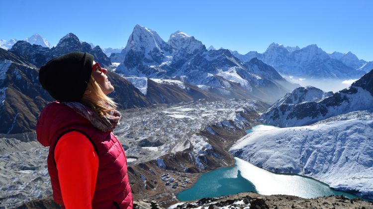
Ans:
[[[261,115],[262,122],[280,127],[300,126],[351,111],[370,109],[373,106],[373,70],[348,89],[321,101],[299,104],[281,104],[280,101],[278,106],[270,107]]]

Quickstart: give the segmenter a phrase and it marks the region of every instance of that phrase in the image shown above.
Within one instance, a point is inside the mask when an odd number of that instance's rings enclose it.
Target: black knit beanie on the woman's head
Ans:
[[[80,102],[90,81],[93,56],[71,52],[56,57],[39,71],[41,86],[59,102]]]

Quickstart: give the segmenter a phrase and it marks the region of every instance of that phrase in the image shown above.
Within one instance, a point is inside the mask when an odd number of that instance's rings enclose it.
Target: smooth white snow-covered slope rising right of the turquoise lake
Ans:
[[[356,111],[309,126],[252,132],[230,152],[273,172],[309,176],[372,199],[372,136],[372,111]]]

